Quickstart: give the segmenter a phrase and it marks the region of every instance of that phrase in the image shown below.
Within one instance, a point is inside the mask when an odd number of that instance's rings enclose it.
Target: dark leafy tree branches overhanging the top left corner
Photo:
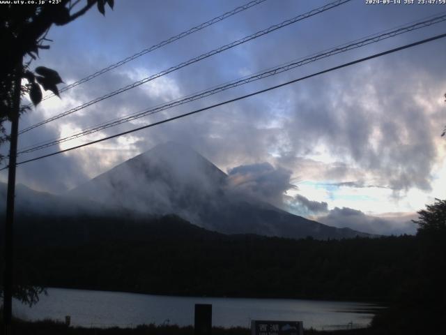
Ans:
[[[45,66],[30,70],[39,50],[49,49],[47,43],[51,40],[47,39],[47,34],[52,25],[68,24],[95,5],[102,15],[105,15],[106,5],[110,8],[114,6],[114,0],[53,2],[20,4],[10,1],[9,4],[1,5],[0,40],[3,52],[0,61],[0,145],[10,140],[5,122],[17,119],[17,111],[20,115],[30,109],[26,106],[18,107],[21,96],[28,93],[33,105],[38,105],[42,100],[42,89],[59,95],[57,84],[62,79],[56,70]],[[25,84],[23,79],[26,80]],[[2,159],[0,155],[0,161]],[[26,284],[13,288],[13,295],[30,305],[38,301],[41,292],[43,288]]]

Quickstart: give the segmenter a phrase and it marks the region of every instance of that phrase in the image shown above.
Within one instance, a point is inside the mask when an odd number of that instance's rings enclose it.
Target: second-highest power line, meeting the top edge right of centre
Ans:
[[[279,24],[274,24],[271,27],[267,28],[267,29],[263,29],[261,31],[257,31],[256,33],[246,36],[244,38],[241,38],[240,40],[236,40],[232,43],[223,45],[222,47],[219,47],[215,50],[212,50],[210,52],[206,52],[205,54],[201,54],[198,57],[194,57],[192,59],[189,59],[188,61],[184,61],[183,63],[180,63],[176,66],[172,66],[171,68],[168,68],[167,70],[163,70],[160,73],[157,73],[155,75],[151,75],[150,77],[146,77],[144,79],[141,79],[137,82],[134,82],[130,85],[127,85],[125,87],[122,87],[121,89],[117,89],[116,91],[113,91],[109,94],[105,94],[105,96],[101,96],[100,98],[95,98],[92,101],[89,101],[88,103],[84,103],[83,105],[79,105],[77,107],[74,107],[66,112],[63,112],[61,114],[55,115],[54,117],[50,117],[49,119],[46,119],[45,121],[40,121],[37,124],[33,124],[32,126],[29,126],[28,128],[24,128],[22,129],[22,131],[19,132],[19,134],[22,133],[26,133],[26,131],[31,131],[31,129],[33,128],[37,128],[38,126],[42,126],[43,124],[47,124],[48,122],[54,121],[56,119],[60,119],[61,117],[66,117],[69,114],[72,114],[74,112],[77,112],[79,110],[84,109],[85,107],[88,107],[90,105],[93,105],[95,103],[98,103],[102,100],[105,100],[107,98],[111,98],[112,96],[116,96],[117,94],[121,94],[125,91],[128,91],[129,89],[133,89],[134,87],[138,87],[141,84],[145,84],[146,82],[149,82],[151,80],[154,80],[158,77],[162,77],[163,75],[167,75],[168,73],[174,72],[175,70],[179,70],[180,68],[184,68],[185,66],[189,66],[190,64],[194,64],[197,63],[198,61],[201,61],[203,59],[206,59],[208,57],[213,56],[214,54],[219,54],[220,52],[224,52],[225,50],[229,50],[232,47],[236,47],[237,45],[246,43],[249,40],[254,40],[255,38],[258,38],[260,36],[266,35],[266,34],[270,34],[272,31],[276,31],[277,29],[281,29],[283,27],[289,26],[290,24],[293,24],[295,22],[301,21],[301,20],[305,20],[307,17],[312,17],[314,15],[317,15],[319,13],[323,13],[325,12],[325,10],[330,10],[332,8],[335,8],[337,6],[340,6],[344,3],[347,3],[348,1],[351,0],[337,0],[337,1],[333,1],[331,3],[326,4],[325,6],[316,8],[314,10],[310,10],[309,12],[305,13],[305,14],[301,14],[298,15],[296,17],[293,17],[292,19],[289,20],[285,20],[282,23]]]

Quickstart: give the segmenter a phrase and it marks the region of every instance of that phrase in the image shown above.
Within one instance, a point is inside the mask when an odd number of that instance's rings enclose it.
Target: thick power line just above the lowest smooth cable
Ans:
[[[85,135],[90,135],[92,133],[96,133],[98,131],[101,131],[103,129],[110,128],[112,126],[117,126],[119,124],[124,124],[125,122],[133,121],[134,119],[139,119],[141,117],[146,117],[147,115],[155,114],[157,112],[161,112],[162,110],[167,110],[172,107],[176,107],[178,105],[183,105],[185,103],[190,103],[191,101],[196,101],[201,98],[205,98],[207,96],[217,94],[221,91],[225,91],[227,89],[231,89],[233,87],[238,87],[243,84],[247,84],[249,82],[254,82],[256,80],[261,80],[266,77],[270,77],[272,75],[277,75],[279,73],[286,72],[288,70],[291,70],[293,68],[297,68],[298,66],[303,66],[305,64],[309,64],[313,61],[317,61],[319,59],[323,59],[326,57],[330,57],[334,54],[339,54],[341,52],[346,52],[349,50],[356,49],[358,47],[363,47],[364,45],[369,45],[372,43],[378,43],[380,40],[384,40],[387,38],[392,38],[394,36],[398,36],[400,34],[404,34],[408,31],[413,31],[415,29],[421,29],[424,27],[429,27],[432,24],[438,24],[440,22],[444,22],[446,20],[446,15],[441,15],[438,17],[433,17],[429,20],[424,20],[422,22],[417,22],[415,24],[411,24],[406,27],[399,26],[398,29],[394,30],[387,30],[384,34],[375,34],[371,36],[367,36],[365,38],[355,40],[351,43],[344,43],[343,45],[333,47],[332,49],[325,50],[323,52],[318,52],[316,54],[313,54],[309,57],[299,59],[297,61],[292,61],[287,64],[284,64],[282,66],[275,66],[274,68],[270,68],[268,70],[261,71],[259,73],[256,73],[254,75],[250,75],[247,77],[239,78],[238,80],[233,80],[232,82],[226,82],[224,84],[220,84],[219,86],[212,87],[210,89],[207,89],[205,91],[201,91],[196,94],[191,94],[189,96],[185,96],[183,98],[178,98],[174,101],[169,101],[168,103],[164,103],[162,105],[158,105],[156,107],[151,107],[148,110],[142,110],[133,114],[126,115],[125,117],[121,117],[118,119],[114,119],[111,121],[103,122],[102,124],[99,124],[97,126],[93,126],[90,128],[86,128],[79,133],[75,133],[74,135],[70,135],[68,137],[58,138],[56,140],[49,140],[46,142],[41,142],[40,144],[34,144],[33,146],[29,146],[26,148],[21,149],[18,154],[26,154],[33,151],[37,151],[40,149],[45,149],[47,147],[52,147],[53,145],[60,144],[63,142],[67,142],[69,140],[74,140],[75,138],[82,137]]]

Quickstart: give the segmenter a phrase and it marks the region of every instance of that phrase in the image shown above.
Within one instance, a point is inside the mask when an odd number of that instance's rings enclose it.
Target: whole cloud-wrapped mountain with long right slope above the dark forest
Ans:
[[[176,214],[225,234],[316,239],[370,236],[334,228],[234,191],[229,177],[190,147],[160,144],[67,195],[140,214]]]

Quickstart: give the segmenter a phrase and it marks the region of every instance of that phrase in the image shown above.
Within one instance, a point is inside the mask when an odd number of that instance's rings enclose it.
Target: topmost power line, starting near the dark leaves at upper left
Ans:
[[[128,63],[129,61],[132,61],[134,59],[137,59],[138,57],[144,56],[144,54],[148,54],[149,52],[152,52],[154,50],[159,49],[160,47],[164,47],[164,45],[168,45],[170,43],[175,42],[176,40],[180,40],[183,37],[189,36],[190,34],[194,34],[197,31],[200,31],[201,29],[204,29],[206,27],[209,27],[217,22],[220,22],[228,17],[231,17],[232,15],[236,15],[240,12],[243,12],[244,10],[247,10],[251,7],[254,7],[256,5],[259,5],[260,3],[264,2],[266,0],[254,0],[254,1],[250,1],[248,3],[245,3],[245,5],[243,6],[239,6],[237,8],[234,8],[233,10],[230,10],[229,12],[226,12],[222,15],[219,15],[217,17],[214,17],[213,19],[210,19],[206,22],[203,22],[201,24],[199,24],[198,26],[192,27],[191,29],[188,29],[186,31],[183,31],[182,33],[176,35],[176,36],[172,36],[171,38],[168,38],[167,40],[163,40],[162,42],[156,44],[156,45],[152,45],[151,47],[148,47],[147,49],[141,50],[140,52],[137,52],[135,54],[132,54],[132,56],[127,57],[121,61],[118,61],[110,66],[107,66],[106,68],[102,68],[101,70],[98,70],[97,72],[88,75],[82,79],[77,80],[77,82],[73,82],[72,84],[67,85],[66,87],[63,87],[62,89],[59,90],[59,93],[62,93],[64,91],[68,91],[68,89],[72,89],[73,87],[76,87],[80,84],[84,84],[84,82],[89,82],[90,80],[92,80],[95,77],[98,77],[99,75],[102,75],[104,73],[107,73],[109,70],[114,70],[115,68],[118,68],[121,65],[124,65],[126,63]],[[56,96],[55,94],[49,94],[47,96],[45,96],[42,101],[47,100],[49,98],[52,98],[53,96]]]

